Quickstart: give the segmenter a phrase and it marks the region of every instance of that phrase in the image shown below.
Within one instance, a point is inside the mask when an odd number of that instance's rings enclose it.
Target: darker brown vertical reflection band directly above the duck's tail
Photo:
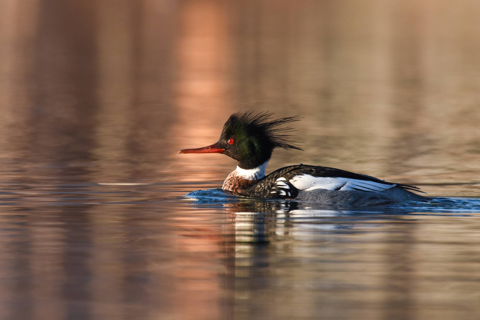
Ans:
[[[422,128],[425,114],[424,44],[425,10],[418,1],[397,3],[392,23],[392,95],[391,130],[395,135],[389,153],[388,171],[402,173],[409,170],[409,162],[425,152],[430,141]],[[405,24],[409,28],[405,28]],[[407,130],[406,130],[407,128]],[[408,146],[408,147],[407,147]],[[399,154],[395,150],[405,151]]]

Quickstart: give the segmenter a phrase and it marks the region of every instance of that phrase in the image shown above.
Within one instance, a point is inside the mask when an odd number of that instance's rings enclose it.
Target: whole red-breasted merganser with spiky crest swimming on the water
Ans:
[[[298,142],[289,140],[288,133],[293,128],[283,126],[300,120],[300,116],[272,119],[272,115],[252,110],[232,114],[218,142],[179,153],[223,153],[237,160],[237,169],[228,175],[222,189],[249,197],[355,206],[430,199],[410,192],[419,188],[408,184],[390,183],[335,168],[300,164],[265,176],[275,148],[302,150]]]

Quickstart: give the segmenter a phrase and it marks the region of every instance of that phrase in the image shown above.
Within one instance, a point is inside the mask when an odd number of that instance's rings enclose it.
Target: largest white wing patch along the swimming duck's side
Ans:
[[[310,174],[300,174],[294,176],[289,182],[300,190],[360,190],[368,192],[381,192],[393,188],[396,184],[385,184],[381,182],[336,178],[336,177],[314,177]]]

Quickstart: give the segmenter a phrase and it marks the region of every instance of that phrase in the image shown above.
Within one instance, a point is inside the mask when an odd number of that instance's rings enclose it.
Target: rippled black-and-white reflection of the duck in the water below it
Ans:
[[[344,248],[342,242],[355,233],[364,233],[365,228],[380,225],[380,212],[393,220],[401,219],[397,214],[405,214],[403,210],[383,207],[357,209],[292,201],[240,201],[223,207],[232,222],[224,226],[230,226],[224,228],[225,289],[229,309],[241,314],[240,319],[260,317],[268,310],[267,305],[278,303],[280,297],[266,299],[267,290],[283,288],[282,300],[311,310],[318,306],[315,301],[302,300],[308,291],[321,296],[324,287],[358,290],[360,287],[352,284],[332,282],[318,274],[315,279],[313,275],[334,265],[344,268],[346,257],[355,259],[355,255],[348,254],[355,251],[351,246]],[[257,304],[258,309],[252,308]]]

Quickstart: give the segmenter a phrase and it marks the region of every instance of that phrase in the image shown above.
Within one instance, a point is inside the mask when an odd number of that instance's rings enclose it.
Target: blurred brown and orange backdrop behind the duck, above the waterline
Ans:
[[[215,142],[229,114],[253,108],[304,116],[295,126],[306,151],[277,151],[270,170],[308,162],[403,183],[478,181],[478,1],[0,6],[10,168],[223,180],[233,160],[176,151]]]

